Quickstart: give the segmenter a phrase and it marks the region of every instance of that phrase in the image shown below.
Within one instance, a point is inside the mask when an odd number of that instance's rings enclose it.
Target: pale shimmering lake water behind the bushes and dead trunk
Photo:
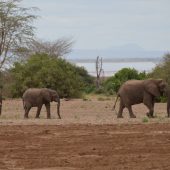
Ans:
[[[95,70],[95,62],[94,63],[75,63],[77,66],[84,67],[89,74],[95,76],[96,70]],[[146,71],[147,73],[152,71],[152,69],[156,66],[155,63],[152,62],[114,62],[114,63],[103,63],[103,70],[104,70],[104,76],[111,76],[117,71],[121,70],[122,68],[134,68],[139,72]]]

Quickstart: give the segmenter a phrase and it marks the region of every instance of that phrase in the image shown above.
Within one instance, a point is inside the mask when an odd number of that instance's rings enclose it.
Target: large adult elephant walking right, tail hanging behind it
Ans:
[[[167,83],[162,79],[129,80],[119,89],[113,109],[115,109],[117,99],[120,97],[118,118],[123,118],[123,109],[126,107],[131,118],[136,118],[132,111],[132,105],[144,103],[149,112],[148,117],[153,117],[155,98],[167,92]]]

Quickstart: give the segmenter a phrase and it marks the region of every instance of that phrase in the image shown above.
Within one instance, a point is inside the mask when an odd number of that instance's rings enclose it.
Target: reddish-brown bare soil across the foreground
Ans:
[[[170,124],[1,126],[0,169],[170,169]]]

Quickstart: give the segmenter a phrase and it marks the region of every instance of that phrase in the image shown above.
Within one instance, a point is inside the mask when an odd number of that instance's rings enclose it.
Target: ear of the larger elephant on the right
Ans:
[[[144,85],[144,88],[146,92],[150,93],[151,95],[155,97],[159,97],[161,95],[159,88],[155,82],[152,82],[152,81],[146,82]]]

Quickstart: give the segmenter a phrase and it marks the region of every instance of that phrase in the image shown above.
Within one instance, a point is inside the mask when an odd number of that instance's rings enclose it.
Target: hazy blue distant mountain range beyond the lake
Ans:
[[[97,56],[103,59],[113,58],[160,58],[166,51],[144,50],[136,44],[127,44],[108,49],[74,49],[67,59],[96,59]]]

